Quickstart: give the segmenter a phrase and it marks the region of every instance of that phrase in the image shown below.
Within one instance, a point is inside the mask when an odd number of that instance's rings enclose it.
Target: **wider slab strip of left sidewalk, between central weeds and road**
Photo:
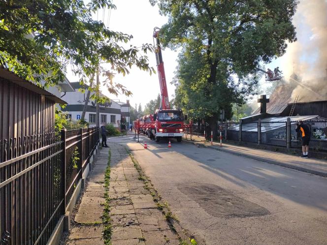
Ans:
[[[178,245],[162,212],[136,170],[126,149],[110,144],[109,198],[112,245]]]

